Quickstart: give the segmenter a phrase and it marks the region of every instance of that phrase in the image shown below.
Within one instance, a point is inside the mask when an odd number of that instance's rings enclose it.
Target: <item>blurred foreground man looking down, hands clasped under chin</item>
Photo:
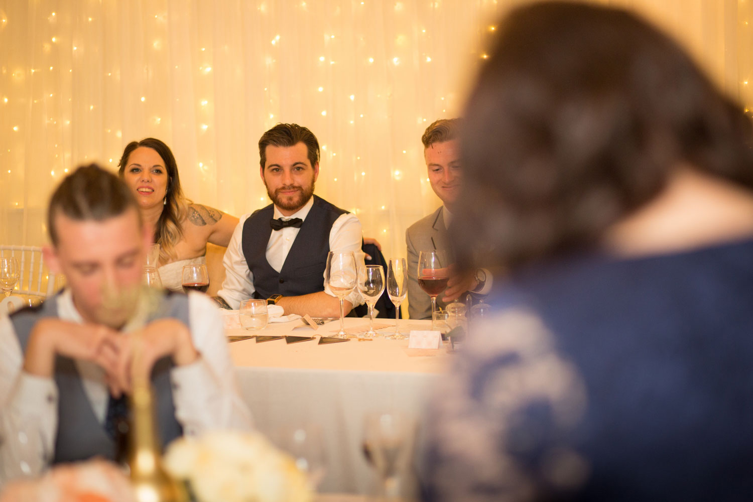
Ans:
[[[87,166],[67,176],[47,228],[44,258],[66,289],[0,315],[0,487],[49,463],[116,458],[135,376],[151,379],[163,445],[251,427],[215,303],[141,285],[154,233],[116,175]]]

